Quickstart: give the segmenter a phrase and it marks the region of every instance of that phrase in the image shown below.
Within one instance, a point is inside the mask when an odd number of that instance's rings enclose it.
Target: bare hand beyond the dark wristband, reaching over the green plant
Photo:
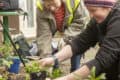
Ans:
[[[54,65],[54,58],[53,57],[44,58],[44,59],[41,59],[39,61],[39,63],[40,63],[40,66],[42,66],[42,67],[53,66]]]

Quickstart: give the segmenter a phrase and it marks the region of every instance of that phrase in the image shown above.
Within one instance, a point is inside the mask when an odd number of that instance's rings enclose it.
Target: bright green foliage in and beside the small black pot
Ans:
[[[40,72],[40,71],[46,71],[47,76],[55,79],[57,77],[60,77],[62,75],[62,72],[60,69],[54,69],[53,71],[50,71],[52,69],[50,66],[49,67],[41,67],[40,64],[36,61],[32,61],[28,63],[25,67],[25,70],[27,73],[34,73],[34,72]],[[29,79],[26,79],[29,80]]]

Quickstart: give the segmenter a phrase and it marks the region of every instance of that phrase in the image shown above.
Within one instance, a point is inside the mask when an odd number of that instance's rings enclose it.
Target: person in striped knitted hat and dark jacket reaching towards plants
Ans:
[[[55,80],[83,80],[88,78],[93,67],[96,68],[96,77],[105,73],[106,79],[101,80],[120,80],[120,1],[84,0],[84,2],[91,17],[87,28],[54,55],[54,58],[42,59],[40,63],[47,66],[54,64],[55,60],[64,61],[72,55],[77,55],[76,53],[84,53],[99,43],[100,48],[94,59],[80,69]]]

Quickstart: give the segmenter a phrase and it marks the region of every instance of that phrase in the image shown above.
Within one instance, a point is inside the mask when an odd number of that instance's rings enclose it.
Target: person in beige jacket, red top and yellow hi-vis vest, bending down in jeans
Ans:
[[[51,54],[84,30],[88,13],[82,0],[37,0],[39,55]],[[63,41],[63,42],[62,42]],[[52,45],[52,46],[51,46]],[[71,72],[79,68],[81,55],[71,58]]]

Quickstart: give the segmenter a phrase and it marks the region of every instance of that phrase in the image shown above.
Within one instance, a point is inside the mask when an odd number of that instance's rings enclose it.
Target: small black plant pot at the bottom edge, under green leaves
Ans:
[[[30,73],[30,80],[45,80],[47,77],[46,71]]]

